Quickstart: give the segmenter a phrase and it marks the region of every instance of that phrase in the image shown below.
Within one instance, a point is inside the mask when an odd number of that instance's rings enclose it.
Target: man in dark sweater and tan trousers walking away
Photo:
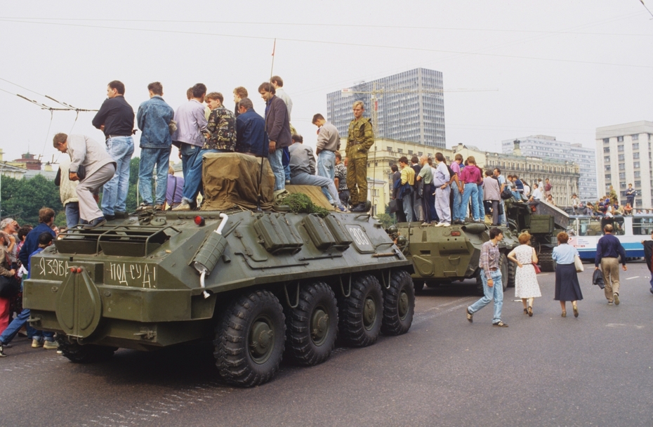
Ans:
[[[612,306],[619,306],[619,256],[621,256],[621,265],[624,271],[626,268],[626,251],[621,246],[619,239],[612,235],[612,224],[606,224],[603,228],[605,235],[601,237],[596,244],[596,258],[594,259],[595,270],[603,272],[603,283],[605,284],[605,298],[607,303]]]

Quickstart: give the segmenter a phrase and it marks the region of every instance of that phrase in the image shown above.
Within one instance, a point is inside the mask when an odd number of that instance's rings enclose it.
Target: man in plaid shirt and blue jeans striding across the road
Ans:
[[[501,277],[501,265],[499,259],[499,242],[503,239],[503,233],[499,228],[492,228],[489,234],[489,241],[481,247],[481,255],[478,262],[480,276],[483,281],[483,297],[467,308],[467,320],[473,322],[474,313],[487,306],[494,298],[494,316],[492,325],[506,328],[508,324],[501,321],[501,308],[503,307],[503,280]]]

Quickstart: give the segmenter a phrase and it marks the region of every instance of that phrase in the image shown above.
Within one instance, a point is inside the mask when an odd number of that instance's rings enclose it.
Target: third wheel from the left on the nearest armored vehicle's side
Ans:
[[[339,330],[345,344],[366,347],[376,342],[383,322],[383,294],[376,277],[357,277],[350,296],[343,298],[338,308]]]

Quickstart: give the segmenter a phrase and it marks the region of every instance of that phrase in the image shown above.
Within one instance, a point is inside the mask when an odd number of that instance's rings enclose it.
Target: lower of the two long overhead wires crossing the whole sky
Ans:
[[[216,34],[216,33],[208,33],[208,32],[179,31],[179,30],[171,30],[171,29],[107,27],[105,25],[62,24],[62,23],[59,23],[59,22],[32,22],[32,21],[22,21],[22,20],[19,21],[19,20],[6,20],[6,19],[0,19],[0,22],[21,22],[21,23],[25,23],[25,24],[59,25],[59,26],[63,26],[63,27],[119,29],[119,30],[126,30],[126,31],[142,31],[142,32],[156,32],[156,33],[169,33],[169,34],[190,34],[190,35],[213,36],[213,37],[232,37],[232,38],[237,38],[237,39],[253,39],[253,40],[266,40],[266,41],[271,41],[271,40],[277,39],[277,40],[282,40],[282,41],[295,41],[295,42],[299,42],[299,43],[331,44],[331,45],[336,45],[336,46],[357,46],[357,47],[367,47],[367,48],[401,49],[402,51],[454,53],[454,54],[459,54],[459,55],[480,55],[480,56],[491,56],[491,57],[496,57],[496,58],[529,59],[529,60],[552,61],[552,62],[560,62],[560,63],[576,63],[576,64],[587,64],[587,65],[612,65],[612,66],[617,66],[617,67],[635,67],[635,68],[651,68],[651,67],[653,67],[653,65],[600,63],[600,62],[595,62],[595,61],[581,61],[581,60],[570,60],[570,59],[537,58],[537,57],[534,57],[534,56],[501,55],[499,53],[445,51],[445,50],[442,50],[442,49],[417,48],[417,47],[412,47],[412,46],[385,46],[385,45],[380,45],[380,44],[348,43],[348,42],[344,42],[344,41],[322,41],[322,40],[308,40],[308,39],[287,39],[287,38],[282,38],[282,37],[242,36],[242,35],[235,35],[235,34]]]

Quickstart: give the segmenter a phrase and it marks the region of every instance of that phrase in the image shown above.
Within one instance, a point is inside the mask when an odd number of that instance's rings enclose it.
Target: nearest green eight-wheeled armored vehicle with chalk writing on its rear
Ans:
[[[203,173],[201,211],[74,228],[32,258],[29,322],[57,332],[65,357],[211,340],[220,376],[256,386],[284,354],[313,365],[336,338],[369,346],[409,330],[411,261],[369,214],[275,211],[255,157],[205,155]],[[329,207],[319,188],[288,190]]]

